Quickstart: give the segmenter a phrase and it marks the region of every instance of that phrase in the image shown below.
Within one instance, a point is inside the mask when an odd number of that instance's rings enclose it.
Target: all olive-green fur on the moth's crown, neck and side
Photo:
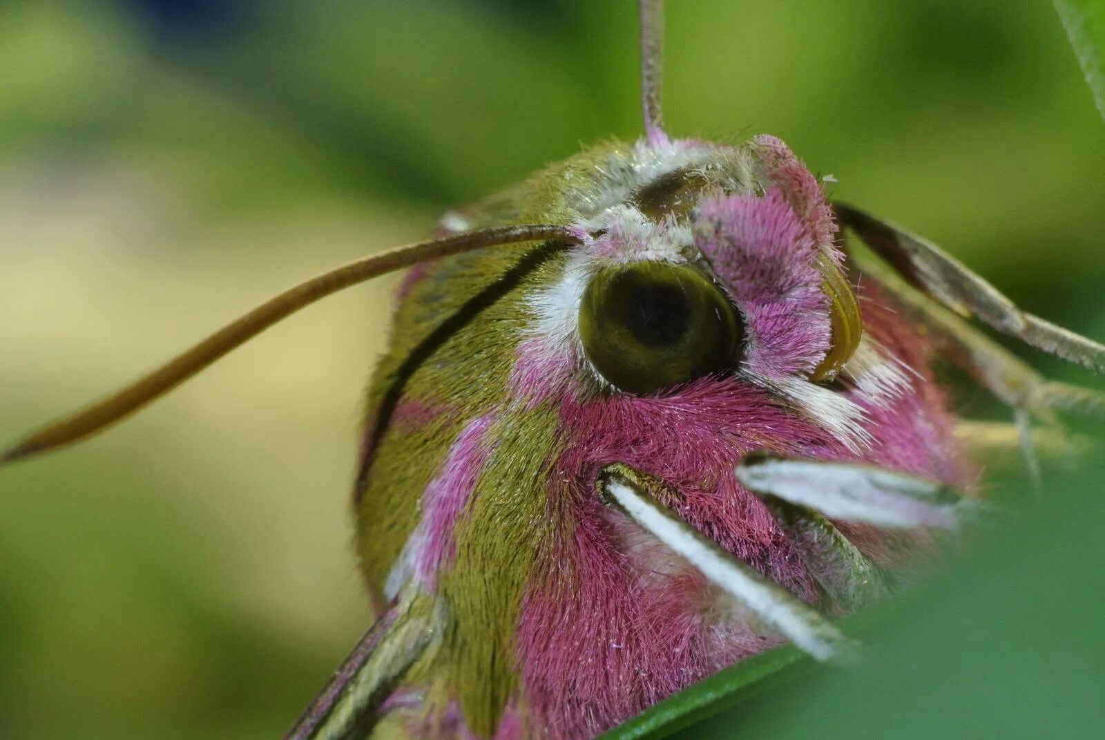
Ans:
[[[708,146],[711,187],[747,189],[746,148]],[[569,225],[600,209],[631,145],[609,142],[457,211],[466,228]],[[698,170],[696,170],[698,171]],[[623,178],[624,179],[624,178]],[[630,194],[625,194],[628,198]],[[567,253],[535,242],[475,250],[428,264],[394,315],[391,343],[369,386],[365,426],[373,447],[355,493],[360,569],[378,607],[382,584],[421,514],[421,496],[466,425],[491,414],[488,450],[454,527],[456,560],[436,574],[445,601],[443,639],[432,663],[403,684],[423,689],[433,712],[460,703],[477,737],[493,733],[518,692],[513,634],[539,543],[568,527],[547,514],[548,468],[558,454],[557,409],[511,397],[518,343],[534,319],[526,298],[558,281]],[[393,423],[399,404],[421,404],[415,421]]]

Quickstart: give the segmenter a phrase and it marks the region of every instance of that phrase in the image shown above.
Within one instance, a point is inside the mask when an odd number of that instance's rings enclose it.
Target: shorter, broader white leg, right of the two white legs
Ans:
[[[754,454],[734,470],[762,498],[817,509],[838,521],[887,529],[956,529],[982,509],[935,480],[875,466]]]

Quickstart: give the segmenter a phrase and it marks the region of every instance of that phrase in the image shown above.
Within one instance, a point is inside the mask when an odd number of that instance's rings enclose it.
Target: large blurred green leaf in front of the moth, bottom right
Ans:
[[[1001,499],[1020,502],[1007,527],[974,531],[923,584],[843,619],[867,646],[859,665],[777,648],[601,737],[1099,738],[1105,460],[1085,462],[1051,471],[1042,494],[1007,483]]]

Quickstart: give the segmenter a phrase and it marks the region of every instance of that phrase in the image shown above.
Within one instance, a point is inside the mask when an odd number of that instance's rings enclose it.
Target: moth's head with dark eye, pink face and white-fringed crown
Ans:
[[[652,177],[592,223],[603,234],[579,341],[614,388],[652,394],[736,371],[827,383],[859,346],[859,304],[817,180],[777,139],[740,155]]]

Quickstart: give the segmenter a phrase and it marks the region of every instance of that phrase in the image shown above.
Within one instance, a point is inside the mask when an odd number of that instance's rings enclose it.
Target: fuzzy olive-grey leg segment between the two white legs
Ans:
[[[895,593],[886,572],[817,511],[774,496],[759,499],[833,604],[857,612]]]

